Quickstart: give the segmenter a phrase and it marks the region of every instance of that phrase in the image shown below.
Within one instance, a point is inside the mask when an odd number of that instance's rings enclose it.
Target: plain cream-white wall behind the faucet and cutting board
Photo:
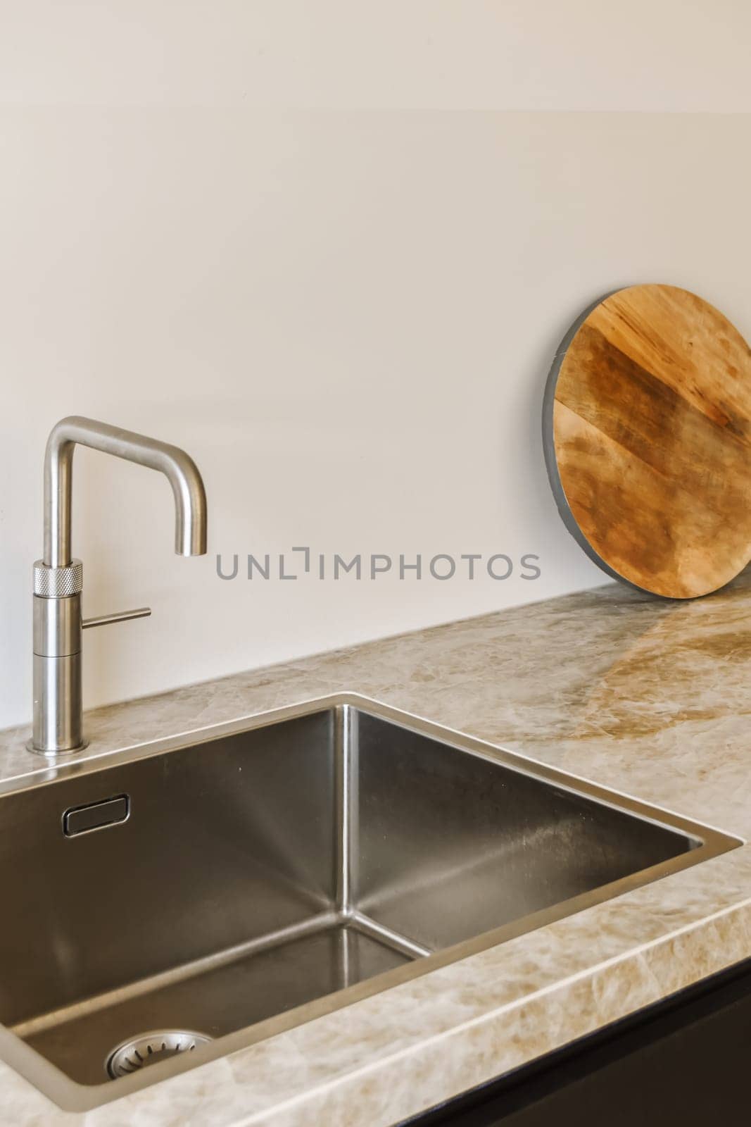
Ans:
[[[185,445],[211,506],[180,559],[166,482],[78,451],[86,612],[154,609],[87,635],[88,707],[602,582],[549,497],[546,371],[637,281],[751,337],[751,8],[26,0],[0,25],[0,724],[30,712],[70,412]],[[216,577],[293,544],[543,574]]]

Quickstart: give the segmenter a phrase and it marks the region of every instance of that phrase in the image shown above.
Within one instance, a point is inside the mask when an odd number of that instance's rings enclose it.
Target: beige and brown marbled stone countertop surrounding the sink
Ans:
[[[751,837],[751,575],[617,585],[87,713],[116,751],[357,692]],[[37,766],[0,733],[0,781]],[[86,1113],[0,1063],[17,1127],[387,1127],[751,956],[746,845]]]

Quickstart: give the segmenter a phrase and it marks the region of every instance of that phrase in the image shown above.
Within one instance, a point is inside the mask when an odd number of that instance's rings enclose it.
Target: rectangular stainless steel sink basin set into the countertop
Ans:
[[[0,1055],[84,1110],[737,844],[351,695],[95,755],[0,793]]]

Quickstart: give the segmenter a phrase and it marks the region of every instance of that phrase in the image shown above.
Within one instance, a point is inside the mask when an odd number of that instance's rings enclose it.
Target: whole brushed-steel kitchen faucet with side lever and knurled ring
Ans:
[[[206,552],[206,492],[184,450],[155,438],[71,415],[53,427],[44,460],[44,558],[34,564],[34,722],[29,751],[82,751],[81,631],[145,618],[149,607],[81,618],[83,565],[71,556],[71,499],[75,444],[160,470],[175,495],[175,551]]]

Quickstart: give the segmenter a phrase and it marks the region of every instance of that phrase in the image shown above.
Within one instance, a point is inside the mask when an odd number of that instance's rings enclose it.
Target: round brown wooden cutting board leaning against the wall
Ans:
[[[561,516],[615,578],[695,598],[751,559],[751,349],[696,294],[635,285],[588,309],[543,438]]]

